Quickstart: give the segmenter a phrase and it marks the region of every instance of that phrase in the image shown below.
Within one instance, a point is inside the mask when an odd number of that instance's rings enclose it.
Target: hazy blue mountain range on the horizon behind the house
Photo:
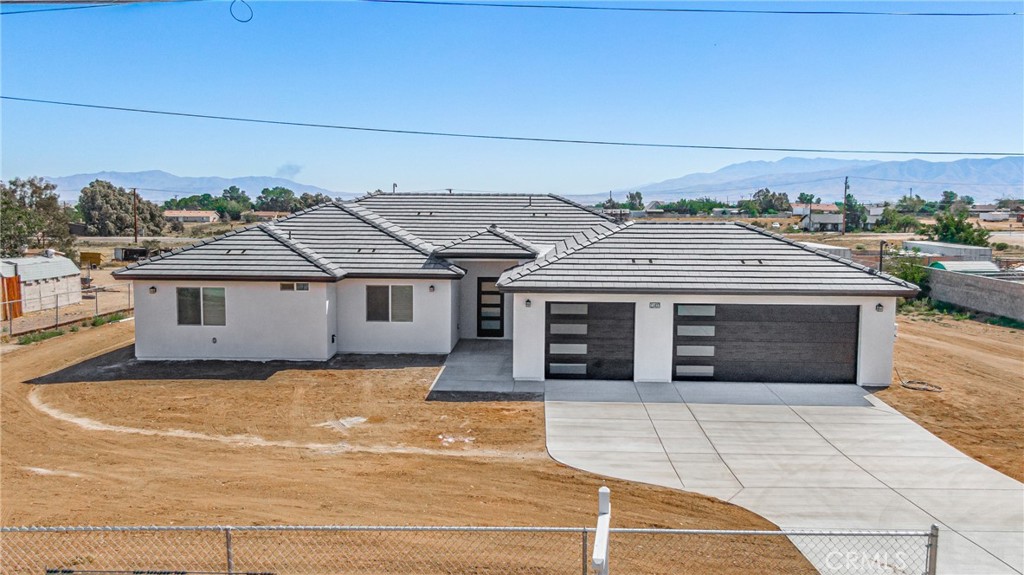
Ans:
[[[999,197],[1024,197],[1024,158],[972,159],[954,162],[906,160],[879,162],[866,160],[833,160],[829,158],[783,158],[777,162],[743,162],[732,164],[712,173],[697,173],[655,183],[647,183],[612,191],[617,200],[627,192],[640,191],[645,202],[676,201],[711,196],[736,202],[750,197],[760,188],[784,191],[790,200],[801,192],[834,202],[843,196],[843,179],[850,178],[850,192],[861,203],[895,201],[911,189],[926,200],[937,200],[942,191],[951,189],[961,195],[971,195],[978,203],[991,203]],[[240,178],[182,177],[152,170],[147,172],[96,172],[63,177],[47,177],[57,185],[66,202],[77,202],[79,192],[89,182],[100,179],[126,188],[135,187],[139,195],[162,204],[174,196],[197,193],[219,194],[237,185],[255,197],[265,187],[283,186],[302,193],[326,193],[331,197],[351,198],[322,187],[300,184],[286,178],[246,176]],[[607,192],[578,194],[572,198],[588,205],[602,202]]]

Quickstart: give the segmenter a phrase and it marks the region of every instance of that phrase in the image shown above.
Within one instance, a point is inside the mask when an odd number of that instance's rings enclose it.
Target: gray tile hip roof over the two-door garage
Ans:
[[[909,296],[901,279],[738,223],[630,223],[505,272],[506,292]]]

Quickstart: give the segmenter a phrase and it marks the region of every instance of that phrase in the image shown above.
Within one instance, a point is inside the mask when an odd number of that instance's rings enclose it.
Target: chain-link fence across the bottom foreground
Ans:
[[[6,527],[3,575],[587,575],[595,530],[543,527]],[[611,529],[610,571],[934,573],[928,531]],[[779,544],[779,539],[793,544]],[[591,572],[593,573],[593,572]]]

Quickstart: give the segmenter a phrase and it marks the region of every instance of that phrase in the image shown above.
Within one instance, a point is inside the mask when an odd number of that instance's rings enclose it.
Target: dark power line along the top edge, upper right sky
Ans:
[[[691,8],[678,6],[588,6],[580,4],[523,4],[511,2],[444,2],[442,0],[359,0],[376,4],[412,4],[474,8],[525,8],[542,10],[585,10],[614,12],[682,12],[709,14],[791,14],[812,16],[1018,16],[1021,12],[903,12],[878,10],[782,10],[754,8]]]

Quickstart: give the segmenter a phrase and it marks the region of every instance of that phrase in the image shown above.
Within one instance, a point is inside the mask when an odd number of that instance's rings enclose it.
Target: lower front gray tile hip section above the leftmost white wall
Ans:
[[[271,224],[258,224],[116,270],[123,279],[332,281],[344,271]]]

